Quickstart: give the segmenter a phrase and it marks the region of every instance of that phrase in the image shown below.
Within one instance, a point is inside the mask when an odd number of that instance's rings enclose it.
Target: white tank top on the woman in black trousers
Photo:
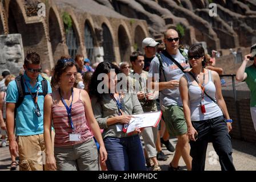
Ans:
[[[212,119],[223,115],[221,108],[215,104],[209,97],[204,96],[205,99],[205,110],[206,113],[201,112],[200,102],[202,101],[201,92],[202,89],[199,85],[193,85],[191,83],[191,76],[189,73],[185,74],[189,89],[189,103],[190,103],[190,113],[191,121],[202,121],[206,119]],[[216,88],[214,82],[211,79],[211,71],[208,70],[208,82],[205,84],[205,92],[216,101],[215,93]],[[194,80],[194,79],[193,79]]]

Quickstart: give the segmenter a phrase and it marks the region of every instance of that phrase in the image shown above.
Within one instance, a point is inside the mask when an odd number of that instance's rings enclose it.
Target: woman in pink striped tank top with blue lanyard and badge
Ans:
[[[73,59],[58,60],[52,78],[53,86],[58,85],[58,89],[45,97],[46,165],[53,170],[99,170],[93,135],[99,143],[102,162],[107,159],[89,95],[85,90],[73,88],[76,75],[77,65]],[[52,121],[55,130],[54,150],[51,146]]]

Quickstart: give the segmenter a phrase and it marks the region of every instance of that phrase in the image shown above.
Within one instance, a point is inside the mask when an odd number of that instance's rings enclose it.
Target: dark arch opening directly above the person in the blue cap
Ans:
[[[96,40],[95,40],[95,32],[94,32],[93,26],[91,26],[91,22],[89,19],[85,20],[84,38],[85,38],[84,41],[85,41],[87,57],[93,63],[95,62],[94,47],[96,45]]]

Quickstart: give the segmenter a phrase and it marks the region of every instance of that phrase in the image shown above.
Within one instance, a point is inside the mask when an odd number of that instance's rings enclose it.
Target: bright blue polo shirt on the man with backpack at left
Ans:
[[[39,75],[37,78],[37,84],[34,87],[30,85],[30,78],[24,73],[23,78],[25,78],[27,86],[29,86],[31,92],[37,92],[37,86],[39,85],[39,93],[42,93],[42,76]],[[25,92],[29,92],[27,86],[25,86]],[[51,93],[50,82],[47,81],[48,93]],[[18,101],[18,88],[15,80],[11,81],[7,87],[6,92],[6,102],[16,103]],[[43,96],[38,96],[38,106],[40,109],[41,117],[37,117],[34,111],[34,101],[32,96],[26,95],[22,104],[17,108],[16,120],[15,120],[15,135],[28,136],[37,135],[43,133]]]

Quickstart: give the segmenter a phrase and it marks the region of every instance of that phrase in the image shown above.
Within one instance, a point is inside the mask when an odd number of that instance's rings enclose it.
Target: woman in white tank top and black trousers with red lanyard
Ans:
[[[205,51],[199,44],[189,48],[192,67],[179,81],[179,92],[190,138],[193,171],[205,169],[208,142],[213,142],[223,171],[233,171],[229,131],[232,119],[221,93],[221,81],[215,71],[205,69]]]

